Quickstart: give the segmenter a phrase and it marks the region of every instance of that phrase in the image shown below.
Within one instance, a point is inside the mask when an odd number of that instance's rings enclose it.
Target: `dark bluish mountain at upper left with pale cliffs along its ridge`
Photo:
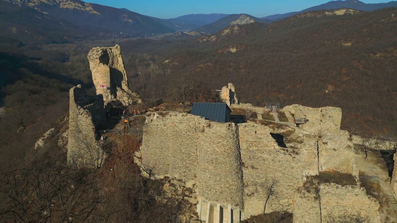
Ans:
[[[80,0],[2,0],[17,6],[32,8],[51,19],[63,19],[75,25],[101,31],[132,35],[170,33],[175,30],[148,16],[118,8],[90,4]]]

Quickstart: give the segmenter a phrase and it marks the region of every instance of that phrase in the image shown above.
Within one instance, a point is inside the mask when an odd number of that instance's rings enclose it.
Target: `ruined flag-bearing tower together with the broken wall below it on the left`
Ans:
[[[97,132],[105,122],[104,108],[112,102],[129,106],[142,101],[129,90],[119,45],[93,48],[87,58],[96,96],[87,96],[81,85],[70,89],[67,160],[77,166],[99,168],[106,158]]]

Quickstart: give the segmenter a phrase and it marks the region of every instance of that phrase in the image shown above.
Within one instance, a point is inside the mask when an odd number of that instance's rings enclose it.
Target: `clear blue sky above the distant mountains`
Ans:
[[[330,0],[85,0],[162,19],[197,13],[247,13],[256,17],[301,11]],[[362,0],[364,3],[389,2]]]

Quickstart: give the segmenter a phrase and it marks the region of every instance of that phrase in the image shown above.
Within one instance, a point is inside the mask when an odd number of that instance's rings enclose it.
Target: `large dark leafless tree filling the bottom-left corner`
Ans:
[[[102,200],[90,169],[70,169],[60,157],[20,163],[0,179],[5,222],[85,222]]]

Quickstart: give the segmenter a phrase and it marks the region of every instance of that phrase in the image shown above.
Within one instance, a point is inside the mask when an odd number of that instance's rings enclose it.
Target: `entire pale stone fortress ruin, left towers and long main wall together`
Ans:
[[[97,95],[87,96],[81,85],[70,90],[67,159],[98,168],[104,157],[98,158],[103,145],[96,130],[106,104],[118,100],[127,106],[140,99],[128,89],[118,45],[93,48],[88,58]],[[268,200],[266,213],[287,208],[297,223],[325,223],[355,213],[381,222],[378,200],[358,181],[351,136],[340,129],[340,108],[285,106],[279,112],[287,120],[267,121],[262,115],[269,109],[241,104],[232,84],[222,88],[220,98],[232,111],[249,109],[257,118],[237,124],[180,112],[148,113],[136,159],[150,177],[192,188],[190,200],[200,221],[235,223],[262,214],[266,185],[276,180],[278,197]],[[308,122],[297,127],[294,120],[300,118]],[[354,182],[318,182],[323,173],[335,172],[351,175]],[[397,183],[393,186],[397,191]]]

